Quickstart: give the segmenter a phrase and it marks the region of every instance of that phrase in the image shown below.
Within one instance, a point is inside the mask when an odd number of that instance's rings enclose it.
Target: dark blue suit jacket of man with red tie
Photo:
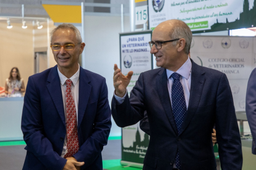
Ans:
[[[78,107],[79,152],[74,157],[85,162],[81,169],[103,169],[101,150],[111,128],[108,89],[105,78],[81,67]],[[66,121],[57,65],[28,78],[22,132],[27,144],[24,170],[64,167]]]

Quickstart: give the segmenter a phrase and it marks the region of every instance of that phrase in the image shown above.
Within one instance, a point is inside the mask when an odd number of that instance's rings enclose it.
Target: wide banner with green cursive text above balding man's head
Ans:
[[[179,19],[192,31],[223,31],[256,25],[255,0],[148,0],[150,29]]]

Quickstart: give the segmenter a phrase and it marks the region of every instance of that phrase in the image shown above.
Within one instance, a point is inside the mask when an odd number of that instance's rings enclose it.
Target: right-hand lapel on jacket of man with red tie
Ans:
[[[90,78],[88,77],[85,70],[80,67],[79,75],[79,110],[78,110],[78,126],[82,123],[83,116],[85,115],[85,110],[87,108],[88,100],[92,90],[92,86],[89,84]]]

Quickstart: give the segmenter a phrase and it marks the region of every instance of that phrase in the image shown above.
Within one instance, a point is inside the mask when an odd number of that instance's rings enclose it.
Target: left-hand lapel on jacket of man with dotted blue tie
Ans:
[[[158,89],[159,98],[160,98],[161,104],[163,105],[166,116],[168,117],[169,122],[171,123],[171,126],[173,126],[173,129],[177,134],[177,128],[173,118],[173,111],[171,108],[171,100],[169,97],[167,80],[168,79],[166,75],[166,69],[162,69],[159,72],[158,77],[156,78],[156,87],[157,87],[156,89]]]

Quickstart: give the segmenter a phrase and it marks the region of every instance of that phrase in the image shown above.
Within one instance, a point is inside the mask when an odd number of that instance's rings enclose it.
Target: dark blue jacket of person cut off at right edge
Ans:
[[[256,68],[252,70],[247,84],[245,111],[252,133],[252,153],[256,155]]]

